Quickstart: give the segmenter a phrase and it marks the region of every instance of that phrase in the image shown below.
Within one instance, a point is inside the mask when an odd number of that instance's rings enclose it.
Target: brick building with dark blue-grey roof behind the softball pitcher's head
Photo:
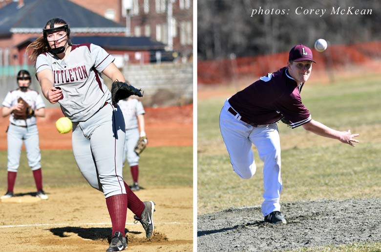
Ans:
[[[72,36],[124,36],[126,27],[69,0],[19,0],[0,8],[0,67],[29,64],[20,58],[20,43],[42,36],[42,27],[54,17],[70,24]],[[86,18],[84,18],[86,17]]]

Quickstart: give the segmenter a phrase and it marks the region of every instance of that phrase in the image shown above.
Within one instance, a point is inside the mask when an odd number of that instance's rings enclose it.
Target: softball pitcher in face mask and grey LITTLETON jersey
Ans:
[[[107,252],[127,248],[127,207],[150,238],[154,229],[154,203],[142,202],[123,181],[125,121],[119,107],[111,104],[111,93],[102,74],[125,81],[114,65],[114,57],[93,44],[72,45],[70,28],[59,18],[49,20],[43,36],[30,44],[31,58],[42,93],[50,103],[59,103],[73,122],[72,147],[77,165],[87,182],[104,193],[112,223]]]

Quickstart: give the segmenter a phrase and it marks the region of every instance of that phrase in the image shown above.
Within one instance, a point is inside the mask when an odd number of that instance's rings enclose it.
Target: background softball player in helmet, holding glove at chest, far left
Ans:
[[[36,183],[36,196],[43,200],[48,199],[42,190],[41,152],[39,132],[36,125],[36,116],[45,116],[45,104],[41,95],[29,88],[30,81],[29,72],[20,70],[17,74],[19,88],[8,92],[2,103],[2,116],[10,115],[10,124],[7,130],[8,189],[5,195],[1,196],[1,199],[14,196],[13,189],[20,165],[22,142],[25,144],[26,157]]]

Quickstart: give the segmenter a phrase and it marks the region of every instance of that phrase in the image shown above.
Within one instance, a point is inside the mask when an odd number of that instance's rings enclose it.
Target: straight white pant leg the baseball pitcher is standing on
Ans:
[[[260,159],[264,162],[262,213],[266,216],[273,211],[280,210],[279,198],[282,190],[280,140],[276,123],[268,126],[259,125],[257,131],[259,130],[261,133],[255,134],[254,131],[250,139],[257,147]]]

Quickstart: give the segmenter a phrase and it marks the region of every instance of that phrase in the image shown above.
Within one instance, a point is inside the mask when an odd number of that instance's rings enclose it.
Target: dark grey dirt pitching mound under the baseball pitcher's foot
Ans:
[[[317,200],[281,205],[287,224],[264,223],[257,207],[198,216],[197,247],[206,251],[277,251],[381,241],[381,199]]]

